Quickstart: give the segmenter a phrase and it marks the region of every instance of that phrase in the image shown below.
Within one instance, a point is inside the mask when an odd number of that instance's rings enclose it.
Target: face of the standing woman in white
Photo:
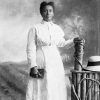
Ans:
[[[42,12],[43,20],[52,21],[53,16],[54,16],[53,7],[50,5],[45,6],[45,8]]]

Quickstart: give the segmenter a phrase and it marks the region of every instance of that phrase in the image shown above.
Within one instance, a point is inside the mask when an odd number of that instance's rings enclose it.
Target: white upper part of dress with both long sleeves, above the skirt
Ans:
[[[27,43],[27,58],[28,65],[30,67],[37,66],[36,58],[37,51],[39,49],[52,48],[52,47],[63,47],[69,45],[73,40],[65,40],[64,32],[60,26],[54,24],[53,22],[41,22],[31,28],[28,34]],[[48,47],[49,46],[49,47]],[[53,51],[52,51],[53,52]],[[40,58],[40,57],[39,57]]]

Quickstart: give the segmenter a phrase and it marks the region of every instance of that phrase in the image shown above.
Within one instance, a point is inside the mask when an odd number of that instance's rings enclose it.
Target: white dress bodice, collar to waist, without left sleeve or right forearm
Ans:
[[[57,46],[63,39],[61,28],[52,22],[42,22],[35,26],[37,46]]]

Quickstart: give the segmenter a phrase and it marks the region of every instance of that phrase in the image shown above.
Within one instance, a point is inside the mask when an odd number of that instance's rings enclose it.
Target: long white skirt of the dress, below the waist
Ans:
[[[65,72],[58,48],[43,46],[41,50],[44,58],[38,57],[37,63],[40,67],[45,63],[46,73],[43,79],[29,77],[26,100],[67,100]]]

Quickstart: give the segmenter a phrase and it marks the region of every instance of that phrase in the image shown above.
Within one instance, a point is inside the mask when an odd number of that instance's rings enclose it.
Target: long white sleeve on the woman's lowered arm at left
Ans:
[[[36,29],[31,28],[28,32],[27,39],[27,60],[30,68],[37,66],[36,64]]]

